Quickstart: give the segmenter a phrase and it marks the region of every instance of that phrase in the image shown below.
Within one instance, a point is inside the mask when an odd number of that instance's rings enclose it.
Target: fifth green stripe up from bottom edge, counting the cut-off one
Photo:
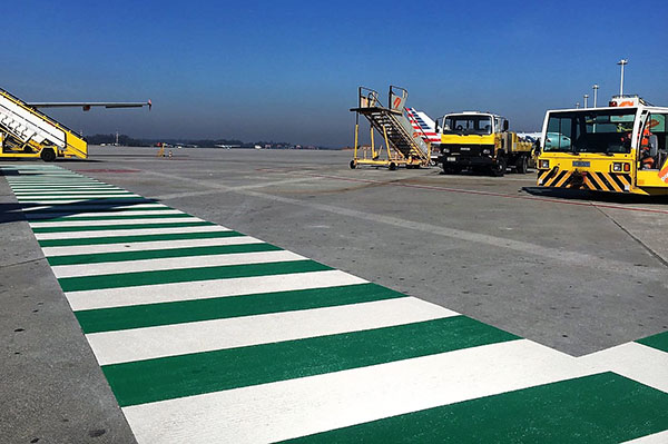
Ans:
[[[145,251],[118,251],[118,253],[96,253],[89,255],[55,256],[49,257],[49,264],[56,265],[77,265],[77,264],[99,264],[117,263],[126,260],[158,259],[164,257],[187,257],[187,256],[210,256],[227,255],[235,253],[254,251],[276,251],[282,248],[271,244],[242,244],[242,245],[216,245],[210,247],[187,247],[151,249]]]

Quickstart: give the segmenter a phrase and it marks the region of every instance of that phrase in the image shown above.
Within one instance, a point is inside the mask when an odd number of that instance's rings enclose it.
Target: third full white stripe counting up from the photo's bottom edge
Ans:
[[[365,284],[366,280],[337,269],[288,275],[236,277],[191,283],[143,285],[66,293],[75,312],[177,300],[291,292],[296,289],[338,287]]]

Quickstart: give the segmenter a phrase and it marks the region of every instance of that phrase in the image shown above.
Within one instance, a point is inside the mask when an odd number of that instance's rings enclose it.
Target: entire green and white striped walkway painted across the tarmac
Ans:
[[[56,166],[0,169],[140,443],[668,442],[668,333],[574,358]]]

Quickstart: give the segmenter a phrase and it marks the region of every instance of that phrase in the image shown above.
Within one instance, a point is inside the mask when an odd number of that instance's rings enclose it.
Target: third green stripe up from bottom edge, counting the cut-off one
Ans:
[[[399,297],[406,296],[376,284],[356,284],[131,307],[99,308],[76,312],[76,315],[84,333],[88,334],[334,307]]]

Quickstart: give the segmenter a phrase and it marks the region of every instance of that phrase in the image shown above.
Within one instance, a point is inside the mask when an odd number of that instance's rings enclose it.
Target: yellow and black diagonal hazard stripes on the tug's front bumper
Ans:
[[[559,171],[558,168],[552,168],[538,172],[538,184],[542,187],[630,193],[631,176],[601,171]]]

